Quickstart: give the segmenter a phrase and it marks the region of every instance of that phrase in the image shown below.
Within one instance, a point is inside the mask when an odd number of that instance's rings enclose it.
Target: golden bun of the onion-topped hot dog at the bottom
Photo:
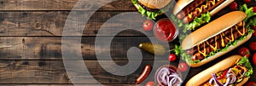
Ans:
[[[236,63],[239,60],[241,60],[241,58],[242,57],[240,55],[232,55],[224,60],[219,61],[214,66],[211,66],[211,67],[207,68],[206,70],[204,70],[203,72],[200,72],[200,73],[196,74],[194,77],[190,78],[189,81],[186,83],[186,86],[199,86],[202,83],[207,82],[210,78],[212,78],[212,76],[211,76],[212,73],[224,71],[224,70],[230,68],[231,66],[235,66]],[[245,77],[243,79],[243,81],[237,85],[241,86],[243,83],[246,83],[247,80],[248,80],[248,78]]]

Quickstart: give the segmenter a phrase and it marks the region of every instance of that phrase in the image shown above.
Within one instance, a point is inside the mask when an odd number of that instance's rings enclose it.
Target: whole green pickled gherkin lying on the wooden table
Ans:
[[[166,47],[156,43],[140,43],[139,49],[143,49],[151,54],[164,55],[166,54]]]

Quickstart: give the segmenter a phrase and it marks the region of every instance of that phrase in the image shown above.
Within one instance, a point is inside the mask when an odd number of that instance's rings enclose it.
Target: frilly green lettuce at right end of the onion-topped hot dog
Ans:
[[[245,73],[245,77],[250,77],[253,74],[253,66],[246,56],[242,57],[236,65],[246,66],[248,71]]]

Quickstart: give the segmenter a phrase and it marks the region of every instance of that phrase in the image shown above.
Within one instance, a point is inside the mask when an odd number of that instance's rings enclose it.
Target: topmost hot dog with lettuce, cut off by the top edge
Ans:
[[[209,18],[224,9],[234,0],[178,0],[173,14],[177,20],[182,20],[184,24],[189,24],[186,29],[194,30],[195,27],[209,22]],[[207,19],[207,20],[206,20]],[[197,21],[199,20],[199,21]]]

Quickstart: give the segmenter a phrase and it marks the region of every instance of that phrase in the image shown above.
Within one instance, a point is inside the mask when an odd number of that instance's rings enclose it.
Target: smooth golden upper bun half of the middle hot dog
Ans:
[[[218,19],[213,20],[206,26],[202,26],[195,32],[190,33],[189,36],[185,37],[182,43],[182,49],[191,49],[197,44],[203,43],[207,39],[215,37],[219,33],[228,30],[232,26],[235,26],[238,22],[244,20],[246,17],[247,15],[241,11],[233,11],[228,14],[224,14]]]

